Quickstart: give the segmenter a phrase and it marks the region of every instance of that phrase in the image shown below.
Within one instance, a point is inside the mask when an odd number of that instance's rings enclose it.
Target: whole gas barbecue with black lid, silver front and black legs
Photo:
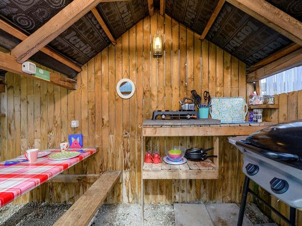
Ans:
[[[231,137],[229,142],[243,153],[246,175],[238,225],[242,225],[248,192],[294,225],[295,208],[302,208],[302,121],[277,124],[250,136]],[[289,220],[249,188],[250,179],[290,206]]]

